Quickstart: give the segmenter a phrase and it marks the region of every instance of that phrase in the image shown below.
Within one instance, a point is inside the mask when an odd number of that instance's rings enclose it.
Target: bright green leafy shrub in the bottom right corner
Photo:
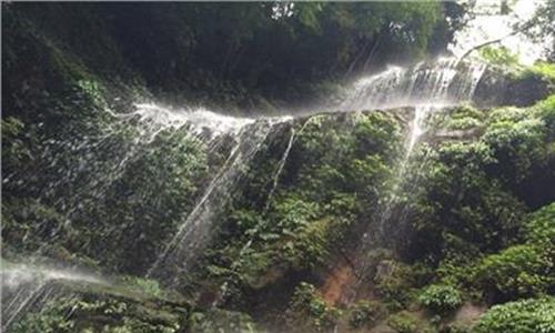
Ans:
[[[554,333],[555,297],[495,305],[473,329],[474,333]]]

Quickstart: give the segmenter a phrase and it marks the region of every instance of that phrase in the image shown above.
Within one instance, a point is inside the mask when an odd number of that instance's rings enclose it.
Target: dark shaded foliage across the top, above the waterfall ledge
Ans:
[[[164,93],[244,107],[260,107],[256,94],[291,103],[325,93],[313,83],[375,69],[383,59],[402,62],[438,52],[463,14],[451,2],[3,3],[2,9],[3,70],[12,78],[4,95],[22,89],[23,78],[40,70],[37,64],[53,60],[69,61],[68,74],[144,82]],[[44,46],[54,51],[33,50]],[[37,79],[27,81],[31,90],[44,87]]]

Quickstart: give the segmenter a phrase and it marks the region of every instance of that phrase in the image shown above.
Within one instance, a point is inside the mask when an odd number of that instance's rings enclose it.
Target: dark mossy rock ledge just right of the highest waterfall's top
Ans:
[[[488,68],[477,84],[474,102],[480,108],[529,107],[554,91],[555,82],[541,74]]]

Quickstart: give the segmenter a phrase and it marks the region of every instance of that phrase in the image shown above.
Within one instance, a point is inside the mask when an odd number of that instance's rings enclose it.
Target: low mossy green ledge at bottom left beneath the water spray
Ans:
[[[188,309],[164,300],[145,301],[101,286],[70,290],[71,295],[49,301],[41,312],[28,312],[10,331],[174,333],[186,327]]]

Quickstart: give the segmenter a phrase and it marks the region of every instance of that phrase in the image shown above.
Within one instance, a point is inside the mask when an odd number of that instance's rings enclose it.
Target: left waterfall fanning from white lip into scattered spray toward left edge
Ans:
[[[61,133],[47,140],[40,155],[36,157],[36,168],[6,174],[2,180],[4,190],[34,192],[29,196],[38,204],[53,208],[65,221],[64,225],[71,225],[74,221],[91,218],[88,211],[91,206],[102,210],[108,194],[115,195],[119,191],[114,184],[132,172],[130,165],[133,162],[162,149],[154,144],[161,133],[170,133],[167,138],[185,133],[192,143],[205,145],[210,153],[224,142],[224,135],[235,135],[245,124],[254,122],[253,119],[218,114],[205,109],[172,110],[151,103],[138,103],[129,113],[107,109],[99,121],[102,123],[85,123],[85,129],[73,131],[71,135]],[[168,162],[178,158],[167,157]],[[164,170],[155,172],[164,175]],[[137,195],[150,195],[147,193],[149,186],[155,182],[157,178],[148,180],[141,185],[147,189],[145,193]],[[51,230],[48,221],[44,221],[44,226],[40,224],[42,222],[37,223],[36,229],[48,232],[49,240],[63,236],[60,235],[63,225]]]

